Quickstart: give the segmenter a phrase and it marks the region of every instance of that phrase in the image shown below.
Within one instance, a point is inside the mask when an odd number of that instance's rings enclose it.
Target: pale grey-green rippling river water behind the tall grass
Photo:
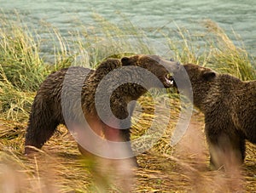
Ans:
[[[93,26],[95,13],[118,26],[125,16],[133,26],[156,39],[156,29],[179,26],[193,34],[200,30],[202,20],[210,19],[236,42],[232,35],[235,31],[248,53],[256,56],[255,0],[0,0],[0,8],[14,20],[15,10],[28,26],[37,28],[42,21],[49,23],[67,38],[71,36],[69,31],[79,31],[81,25]]]

